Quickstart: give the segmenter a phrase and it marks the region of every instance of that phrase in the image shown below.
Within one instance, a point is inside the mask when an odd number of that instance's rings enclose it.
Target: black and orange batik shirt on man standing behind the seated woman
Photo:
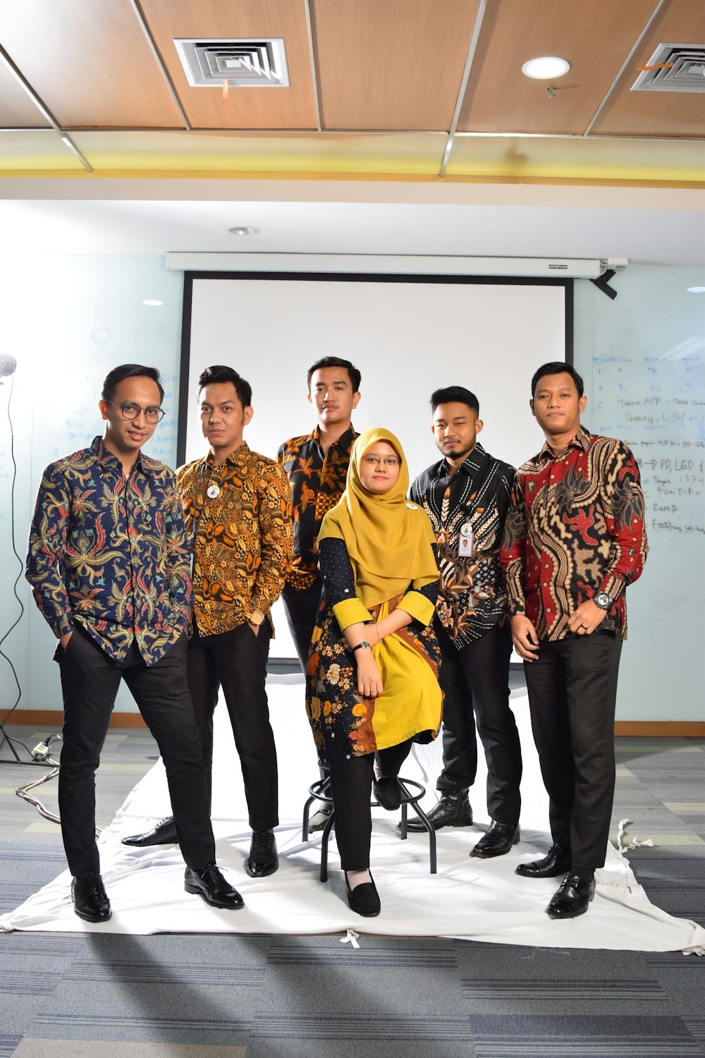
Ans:
[[[318,577],[320,524],[342,495],[356,437],[351,427],[323,455],[316,426],[311,434],[284,441],[277,453],[294,503],[294,562],[286,580],[299,591],[312,587]]]

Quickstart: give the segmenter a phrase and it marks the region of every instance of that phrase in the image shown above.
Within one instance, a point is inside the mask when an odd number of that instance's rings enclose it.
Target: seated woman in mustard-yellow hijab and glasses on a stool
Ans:
[[[307,671],[307,712],[331,768],[348,902],[379,914],[370,874],[370,789],[398,808],[397,776],[413,742],[441,726],[440,651],[431,620],[439,571],[431,524],[407,501],[402,445],[386,430],[355,441],[346,491],[323,518],[323,601]]]

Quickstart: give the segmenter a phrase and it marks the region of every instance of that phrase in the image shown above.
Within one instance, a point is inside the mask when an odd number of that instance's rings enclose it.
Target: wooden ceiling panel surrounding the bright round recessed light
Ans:
[[[699,0],[694,0],[699,2]],[[655,0],[496,0],[488,4],[458,128],[465,132],[581,134],[590,124]],[[533,80],[528,59],[571,63],[551,81]]]

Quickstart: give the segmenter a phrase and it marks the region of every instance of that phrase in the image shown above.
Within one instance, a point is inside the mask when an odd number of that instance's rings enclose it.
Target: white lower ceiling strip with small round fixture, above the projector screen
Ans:
[[[705,264],[700,190],[323,181],[71,184],[3,181],[0,252],[628,257]],[[235,225],[254,225],[261,234],[229,235]]]

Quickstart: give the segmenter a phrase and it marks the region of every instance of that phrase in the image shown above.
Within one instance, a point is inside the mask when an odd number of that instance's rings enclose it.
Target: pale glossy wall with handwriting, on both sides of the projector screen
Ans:
[[[644,468],[651,554],[642,580],[628,594],[630,637],[623,654],[620,719],[703,719],[702,484],[700,495],[680,500],[679,510],[669,512],[671,516],[653,510],[655,503],[665,499],[658,489],[691,487],[683,479],[687,473],[700,475],[702,482],[705,409],[693,402],[705,399],[705,295],[685,292],[686,287],[695,284],[702,285],[703,276],[693,268],[630,266],[613,280],[619,292],[615,302],[587,280],[575,285],[575,362],[586,378],[590,398],[586,424],[623,437],[643,460],[650,461],[657,451],[656,468]],[[11,411],[18,464],[15,535],[23,558],[41,472],[52,459],[89,443],[100,432],[97,399],[110,367],[136,361],[154,364],[163,371],[168,415],[157,427],[150,451],[173,463],[182,277],[166,272],[162,257],[14,256],[0,257],[0,351],[16,355],[19,365]],[[161,298],[164,306],[143,306],[142,300],[148,297]],[[686,360],[681,353],[700,359]],[[646,357],[651,355],[654,361],[647,363]],[[621,360],[597,362],[605,357]],[[658,358],[667,359],[656,363]],[[618,388],[625,384],[619,368],[627,371],[627,381],[634,386],[633,394],[627,397],[621,397]],[[649,368],[662,371],[663,397],[671,401],[670,409],[681,414],[679,409],[686,408],[683,427],[673,424],[665,431],[646,431],[644,423],[626,418],[627,414],[634,418],[633,408],[638,406],[618,401],[645,399],[644,381]],[[527,377],[526,401],[528,383]],[[599,385],[606,385],[601,393]],[[679,396],[681,385],[685,397]],[[19,565],[11,547],[8,395],[5,380],[0,387],[0,636],[19,613],[12,595]],[[691,401],[688,405],[674,403],[686,398]],[[304,400],[303,395],[302,419]],[[602,402],[601,408],[596,406],[598,401]],[[644,441],[651,440],[667,440],[668,444],[643,446]],[[537,435],[537,448],[539,443]],[[670,485],[658,484],[667,476],[661,472],[661,459],[669,458],[662,455],[662,449],[680,460],[693,458],[694,471],[671,468]],[[697,485],[692,482],[693,489]],[[667,528],[669,522],[676,528]],[[688,526],[699,528],[688,531]],[[20,708],[58,710],[61,698],[58,668],[51,660],[53,635],[23,578],[18,591],[26,612],[3,650],[12,657],[20,678]],[[0,658],[0,706],[7,708],[14,700],[12,674]],[[120,692],[117,708],[133,711],[129,694]]]

